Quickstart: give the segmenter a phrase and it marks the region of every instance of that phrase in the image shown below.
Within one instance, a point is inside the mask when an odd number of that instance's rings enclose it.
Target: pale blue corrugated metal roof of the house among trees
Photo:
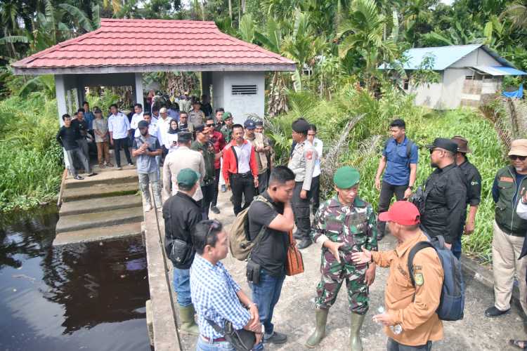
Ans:
[[[452,45],[452,46],[438,46],[433,48],[410,48],[403,53],[403,56],[408,60],[405,62],[404,69],[418,69],[419,65],[423,62],[424,58],[431,55],[434,57],[434,67],[436,71],[442,71],[447,67],[450,67],[455,62],[461,60],[465,56],[469,55],[472,51],[477,48],[482,48],[486,53],[492,56],[497,62],[507,67],[514,67],[511,62],[505,60],[495,51],[491,50],[483,44],[470,44],[470,45]],[[379,69],[391,68],[389,65],[381,65]]]

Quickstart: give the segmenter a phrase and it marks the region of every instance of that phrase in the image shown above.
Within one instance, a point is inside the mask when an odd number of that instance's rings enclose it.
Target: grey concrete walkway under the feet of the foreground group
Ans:
[[[221,214],[211,213],[211,218],[217,218],[228,226],[234,218],[229,197],[230,192],[220,193]],[[390,250],[395,245],[395,239],[387,237],[381,241],[380,249]],[[313,244],[302,253],[306,272],[285,279],[282,296],[273,317],[275,330],[286,333],[289,339],[284,345],[266,345],[266,350],[311,350],[305,347],[304,343],[315,325],[314,298],[315,286],[320,279],[320,248]],[[236,282],[240,283],[242,289],[250,294],[245,281],[245,263],[228,256],[223,260],[223,264]],[[377,277],[370,288],[370,311],[367,313],[361,332],[364,350],[386,350],[386,336],[382,332],[382,327],[372,321],[372,315],[379,306],[383,305],[387,274],[387,269],[377,269]],[[467,281],[466,284],[464,319],[458,322],[445,322],[443,324],[445,338],[434,343],[433,350],[515,350],[507,345],[509,338],[527,339],[517,307],[514,306],[512,312],[504,317],[489,319],[485,317],[484,311],[493,305],[492,291],[475,279]],[[330,311],[327,325],[327,336],[315,350],[349,350],[349,307],[345,289],[341,289],[337,303]],[[183,350],[195,350],[195,337],[184,333],[180,333],[180,336]]]

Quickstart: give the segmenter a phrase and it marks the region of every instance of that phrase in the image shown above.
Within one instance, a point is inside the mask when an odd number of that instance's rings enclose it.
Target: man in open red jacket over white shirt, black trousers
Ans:
[[[243,138],[243,126],[233,126],[233,140],[223,150],[223,179],[228,189],[233,191],[233,206],[235,216],[249,207],[258,187],[258,165],[254,147]],[[242,197],[245,204],[242,206]]]

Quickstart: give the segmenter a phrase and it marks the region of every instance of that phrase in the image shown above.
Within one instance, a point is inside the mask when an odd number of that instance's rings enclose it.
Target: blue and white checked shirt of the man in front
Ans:
[[[230,321],[235,329],[243,329],[249,322],[251,314],[236,295],[240,289],[223,263],[212,265],[196,253],[190,267],[190,295],[202,336],[209,339],[223,337],[206,319],[211,319],[222,328],[226,321]]]

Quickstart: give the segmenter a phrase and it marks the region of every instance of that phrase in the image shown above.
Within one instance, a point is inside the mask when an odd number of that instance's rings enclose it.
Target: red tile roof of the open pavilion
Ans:
[[[122,19],[102,19],[93,32],[12,66],[22,74],[295,68],[292,60],[220,32],[214,22]]]

